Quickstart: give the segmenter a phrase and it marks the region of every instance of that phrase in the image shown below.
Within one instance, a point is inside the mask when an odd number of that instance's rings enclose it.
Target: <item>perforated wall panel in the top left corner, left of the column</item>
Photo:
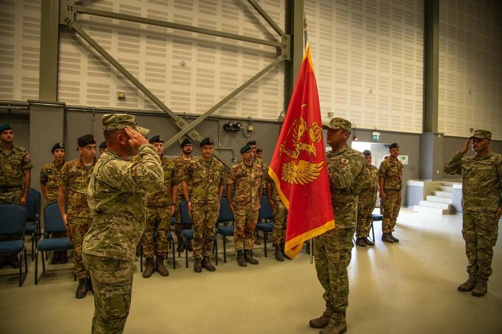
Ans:
[[[0,0],[0,99],[38,99],[40,0]]]

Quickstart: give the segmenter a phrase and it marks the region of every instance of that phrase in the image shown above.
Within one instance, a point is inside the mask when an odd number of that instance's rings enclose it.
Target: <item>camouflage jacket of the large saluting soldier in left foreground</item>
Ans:
[[[141,162],[122,159],[105,150],[99,157],[87,202],[92,223],[85,234],[83,252],[120,260],[134,260],[146,225],[146,193],[162,191],[162,165],[151,144],[139,147]]]

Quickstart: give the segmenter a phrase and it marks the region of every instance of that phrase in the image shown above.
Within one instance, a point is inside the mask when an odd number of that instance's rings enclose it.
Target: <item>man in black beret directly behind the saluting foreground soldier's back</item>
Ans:
[[[82,263],[82,243],[91,222],[86,192],[96,164],[96,141],[92,134],[86,134],[79,137],[77,142],[80,157],[66,162],[61,169],[58,206],[74,249],[73,263],[78,278],[75,297],[83,298],[87,295],[90,285],[89,274]],[[68,201],[68,213],[66,213],[66,201]]]

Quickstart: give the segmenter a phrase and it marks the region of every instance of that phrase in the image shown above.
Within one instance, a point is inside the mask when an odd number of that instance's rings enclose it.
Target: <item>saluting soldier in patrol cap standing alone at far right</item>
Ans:
[[[464,157],[470,140],[476,154]],[[462,176],[462,236],[469,277],[458,290],[472,290],[471,294],[476,297],[484,296],[488,290],[498,220],[502,215],[502,155],[490,151],[490,140],[490,131],[474,130],[444,166],[445,173]]]

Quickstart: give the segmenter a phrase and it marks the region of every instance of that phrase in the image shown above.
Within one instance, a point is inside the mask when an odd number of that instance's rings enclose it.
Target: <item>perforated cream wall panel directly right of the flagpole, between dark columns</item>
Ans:
[[[306,0],[323,120],[422,132],[423,0]]]

